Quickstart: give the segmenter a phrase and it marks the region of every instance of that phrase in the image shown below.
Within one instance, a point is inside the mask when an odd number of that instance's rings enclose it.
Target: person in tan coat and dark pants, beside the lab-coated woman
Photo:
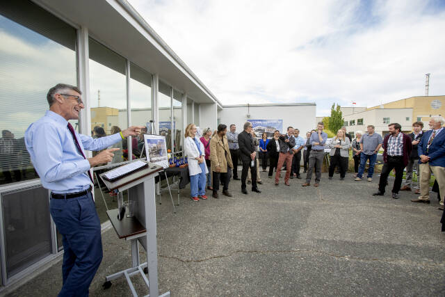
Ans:
[[[210,161],[213,180],[213,198],[218,198],[220,178],[223,182],[223,195],[232,197],[229,193],[229,181],[234,168],[232,156],[230,155],[229,142],[227,141],[227,126],[218,125],[218,133],[210,140]]]

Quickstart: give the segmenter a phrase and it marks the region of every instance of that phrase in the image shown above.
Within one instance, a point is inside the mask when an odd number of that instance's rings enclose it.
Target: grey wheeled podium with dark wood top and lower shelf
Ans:
[[[131,218],[124,214],[118,218],[119,209],[106,211],[111,225],[120,239],[131,242],[131,267],[106,277],[104,288],[111,286],[111,280],[125,278],[133,296],[138,296],[130,277],[140,274],[149,289],[149,296],[170,296],[170,291],[159,295],[158,289],[158,252],[156,247],[156,196],[154,177],[158,175],[161,166],[147,163],[148,166],[136,172],[120,177],[110,182],[104,179],[106,172],[99,175],[110,191],[117,191],[122,201],[122,191],[128,190],[128,198],[136,203]],[[118,205],[122,207],[122,205]],[[141,264],[138,242],[147,252],[147,262]],[[148,279],[144,271],[148,271]],[[147,295],[148,296],[148,295]]]

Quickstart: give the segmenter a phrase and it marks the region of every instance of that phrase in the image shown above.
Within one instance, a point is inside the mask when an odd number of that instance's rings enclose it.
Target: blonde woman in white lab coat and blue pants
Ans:
[[[209,170],[204,159],[204,145],[195,135],[196,126],[188,124],[185,134],[186,139],[184,140],[184,154],[186,154],[188,159],[191,199],[200,201],[200,198],[207,200],[206,175]]]

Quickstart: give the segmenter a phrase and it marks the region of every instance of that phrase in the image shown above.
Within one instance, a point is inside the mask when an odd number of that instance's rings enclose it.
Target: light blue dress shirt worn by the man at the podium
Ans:
[[[65,118],[47,111],[25,132],[26,149],[42,186],[58,194],[85,191],[91,183],[87,173],[90,162],[77,151],[67,125]],[[85,150],[103,150],[122,140],[119,133],[95,139],[76,132],[76,137],[83,154]]]

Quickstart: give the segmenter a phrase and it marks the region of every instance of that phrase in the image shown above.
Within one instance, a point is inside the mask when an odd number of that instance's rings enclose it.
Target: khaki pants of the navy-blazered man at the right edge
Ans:
[[[440,204],[444,204],[445,195],[445,167],[430,166],[429,163],[419,164],[420,170],[420,196],[421,200],[430,200],[430,177],[431,172],[434,174],[439,184],[439,191],[442,197],[440,198]]]

